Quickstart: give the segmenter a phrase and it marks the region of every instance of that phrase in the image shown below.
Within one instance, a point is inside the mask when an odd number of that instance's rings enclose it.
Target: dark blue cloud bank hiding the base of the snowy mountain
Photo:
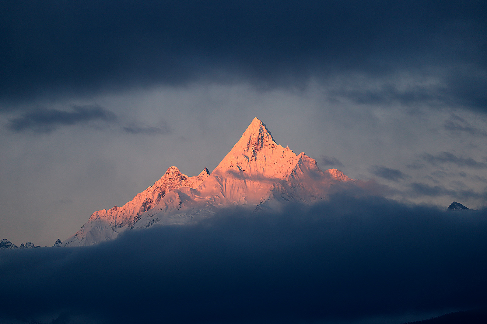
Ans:
[[[312,323],[478,307],[487,303],[486,212],[341,195],[307,211],[227,211],[88,248],[0,251],[0,314]]]

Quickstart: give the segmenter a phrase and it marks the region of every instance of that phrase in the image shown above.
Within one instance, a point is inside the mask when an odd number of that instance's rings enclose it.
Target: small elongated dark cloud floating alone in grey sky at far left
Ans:
[[[7,128],[14,132],[34,131],[50,133],[59,126],[86,124],[91,121],[115,121],[117,118],[111,111],[100,106],[72,106],[72,111],[56,109],[36,109],[22,116],[10,119]]]

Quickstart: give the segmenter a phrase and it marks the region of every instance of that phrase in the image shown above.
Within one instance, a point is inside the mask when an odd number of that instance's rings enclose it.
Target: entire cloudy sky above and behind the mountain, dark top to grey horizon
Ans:
[[[487,205],[485,1],[0,3],[0,238],[53,245],[254,117],[406,204]]]

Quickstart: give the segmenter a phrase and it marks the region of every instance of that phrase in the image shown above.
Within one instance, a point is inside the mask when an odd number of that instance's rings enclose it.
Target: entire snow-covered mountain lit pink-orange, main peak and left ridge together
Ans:
[[[311,205],[325,198],[331,186],[351,181],[343,172],[321,171],[313,158],[277,144],[255,118],[211,173],[205,168],[189,177],[170,167],[122,207],[94,212],[75,235],[56,246],[93,245],[131,229],[198,222],[230,206],[258,212],[289,203]]]

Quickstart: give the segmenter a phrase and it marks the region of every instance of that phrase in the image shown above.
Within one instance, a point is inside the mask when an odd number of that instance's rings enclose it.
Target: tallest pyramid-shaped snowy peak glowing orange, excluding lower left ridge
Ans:
[[[296,155],[277,144],[255,118],[198,190],[201,197],[216,193],[215,202],[226,205],[258,205],[275,198],[311,203],[324,198],[334,180],[351,179],[335,169],[323,172],[305,153]]]

